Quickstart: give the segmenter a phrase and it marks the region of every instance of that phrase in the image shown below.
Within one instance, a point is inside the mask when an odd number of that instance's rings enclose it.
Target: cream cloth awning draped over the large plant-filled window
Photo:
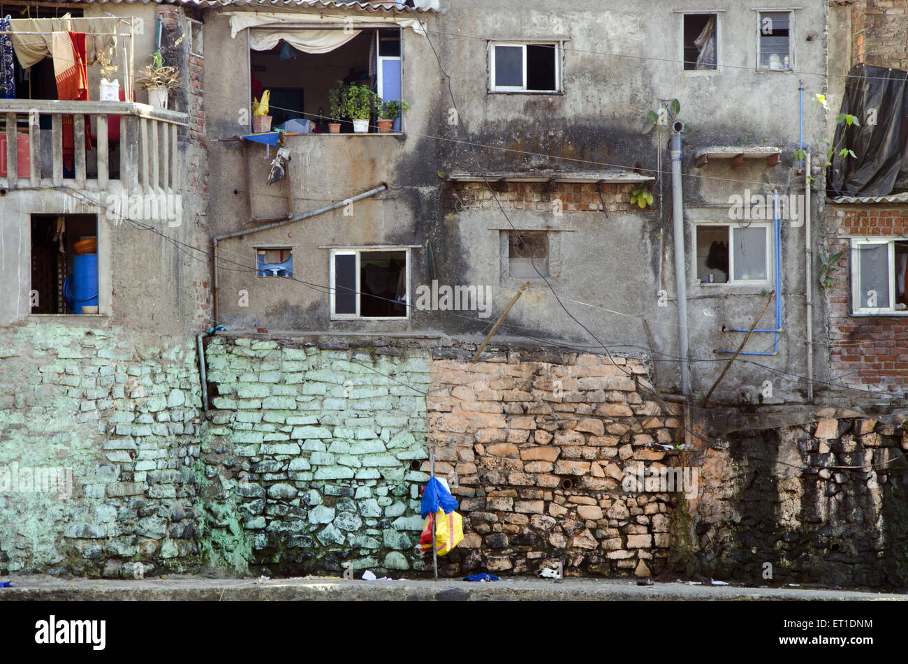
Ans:
[[[230,14],[231,36],[236,37],[243,29],[251,28],[249,43],[253,51],[268,51],[283,39],[303,53],[329,53],[360,34],[359,28],[374,27],[409,27],[425,36],[419,21],[396,15],[370,15],[364,19],[362,16],[346,15],[321,15],[316,18],[279,12]]]

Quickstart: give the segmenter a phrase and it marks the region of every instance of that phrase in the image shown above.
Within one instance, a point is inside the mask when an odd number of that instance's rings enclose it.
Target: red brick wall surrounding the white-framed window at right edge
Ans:
[[[908,206],[827,206],[827,254],[843,252],[833,282],[825,289],[829,306],[829,345],[833,380],[896,395],[908,389],[908,317],[852,316],[851,250],[848,238],[908,235]]]

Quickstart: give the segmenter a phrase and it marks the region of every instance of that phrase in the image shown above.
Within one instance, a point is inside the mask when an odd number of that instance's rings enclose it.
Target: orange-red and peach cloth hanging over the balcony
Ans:
[[[51,54],[54,58],[54,79],[57,99],[77,102],[88,101],[88,66],[85,63],[85,34],[57,32],[51,36]],[[85,116],[85,150],[92,149],[91,124]],[[75,128],[72,115],[63,116],[63,162],[73,169],[75,155]]]

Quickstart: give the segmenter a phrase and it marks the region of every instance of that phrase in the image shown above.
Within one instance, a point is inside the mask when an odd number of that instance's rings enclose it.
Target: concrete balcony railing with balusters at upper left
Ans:
[[[0,99],[0,188],[175,193],[187,124],[143,103]]]

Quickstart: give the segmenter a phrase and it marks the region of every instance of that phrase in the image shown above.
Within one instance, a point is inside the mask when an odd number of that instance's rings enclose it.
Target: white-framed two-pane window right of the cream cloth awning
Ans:
[[[560,93],[560,42],[489,42],[490,93]]]

